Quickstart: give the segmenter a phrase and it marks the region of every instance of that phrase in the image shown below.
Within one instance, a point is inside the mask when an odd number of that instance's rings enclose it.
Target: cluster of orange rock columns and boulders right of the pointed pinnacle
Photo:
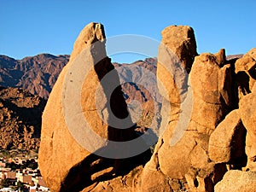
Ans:
[[[166,37],[176,38],[171,36],[177,33],[176,27],[167,27],[164,30],[166,32],[167,29],[172,29],[174,32],[169,32],[169,36],[163,35],[162,42],[166,42]],[[184,30],[185,27],[180,28]],[[186,30],[179,32],[188,33]],[[180,44],[186,38],[188,37],[180,37]],[[188,39],[193,42],[194,38]],[[175,44],[169,47],[167,44],[167,49],[160,45],[157,75],[160,94],[165,98],[161,109],[161,128],[165,131],[154,148],[151,160],[143,169],[142,191],[213,191],[214,185],[222,179],[225,172],[245,166],[247,156],[250,157],[247,170],[254,170],[255,137],[252,132],[248,135],[247,128],[251,125],[250,130],[253,131],[255,125],[253,116],[247,115],[248,111],[253,115],[253,100],[249,99],[253,93],[244,96],[252,91],[251,85],[246,87],[249,91],[242,92],[244,98],[239,105],[247,106],[247,112],[243,111],[241,115],[241,107],[232,111],[238,108],[236,91],[245,89],[241,83],[243,79],[237,74],[235,66],[242,66],[240,63],[243,63],[245,66],[240,67],[240,70],[250,70],[250,73],[246,73],[249,81],[253,82],[253,63],[246,67],[247,62],[241,62],[244,57],[250,57],[249,60],[253,61],[253,50],[237,61],[227,61],[224,49],[214,55],[207,53],[195,56],[191,71],[186,70],[188,75],[184,71],[185,56],[176,54],[177,49],[173,52],[173,46]],[[179,46],[178,49],[183,48]],[[195,49],[188,51],[191,52],[187,55],[196,53]],[[250,107],[243,104],[245,101],[251,103]],[[191,102],[192,105],[189,105]],[[186,108],[183,108],[184,103]],[[166,108],[171,108],[171,112],[168,113]],[[244,117],[250,119],[249,126],[243,123],[246,121],[242,120]],[[185,122],[186,119],[189,119],[189,123]],[[155,180],[158,182],[154,183]]]

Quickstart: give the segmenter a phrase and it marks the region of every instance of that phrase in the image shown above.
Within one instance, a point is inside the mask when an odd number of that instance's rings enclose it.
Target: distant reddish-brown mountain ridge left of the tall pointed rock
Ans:
[[[41,54],[22,60],[0,55],[0,85],[20,87],[47,99],[68,59],[69,55]]]

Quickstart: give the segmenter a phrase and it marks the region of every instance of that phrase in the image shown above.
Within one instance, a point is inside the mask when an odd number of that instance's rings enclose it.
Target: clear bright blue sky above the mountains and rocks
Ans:
[[[82,1],[0,0],[0,55],[15,59],[50,53],[71,54],[79,32],[91,21],[101,22],[107,38],[137,34],[160,41],[171,25],[195,30],[199,53],[228,55],[256,47],[256,1]],[[157,53],[155,53],[155,56]],[[143,55],[112,55],[131,62]]]

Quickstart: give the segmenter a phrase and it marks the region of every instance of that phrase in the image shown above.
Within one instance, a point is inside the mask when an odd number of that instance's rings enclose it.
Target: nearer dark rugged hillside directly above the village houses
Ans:
[[[26,90],[0,87],[0,148],[38,150],[45,103]]]

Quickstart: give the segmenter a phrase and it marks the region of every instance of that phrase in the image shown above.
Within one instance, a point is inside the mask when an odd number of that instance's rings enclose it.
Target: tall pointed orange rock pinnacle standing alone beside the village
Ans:
[[[126,125],[114,118],[126,119]],[[129,150],[115,142],[130,141],[133,130],[118,73],[106,55],[103,26],[90,23],[44,109],[38,162],[45,182],[54,192],[87,191],[103,176],[114,177],[124,170],[119,156]]]

